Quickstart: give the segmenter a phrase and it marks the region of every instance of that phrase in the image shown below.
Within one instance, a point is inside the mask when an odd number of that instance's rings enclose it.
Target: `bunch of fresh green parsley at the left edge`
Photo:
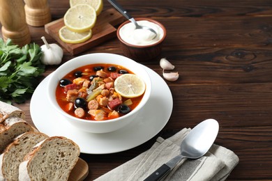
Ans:
[[[22,103],[28,100],[45,72],[40,59],[43,52],[31,43],[20,48],[0,38],[0,100]]]

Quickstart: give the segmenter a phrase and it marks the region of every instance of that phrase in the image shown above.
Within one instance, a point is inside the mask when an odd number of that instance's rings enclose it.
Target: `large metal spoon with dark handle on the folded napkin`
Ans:
[[[197,159],[206,154],[216,140],[219,125],[214,119],[207,119],[195,126],[181,142],[181,154],[163,164],[144,181],[160,180],[183,158]]]

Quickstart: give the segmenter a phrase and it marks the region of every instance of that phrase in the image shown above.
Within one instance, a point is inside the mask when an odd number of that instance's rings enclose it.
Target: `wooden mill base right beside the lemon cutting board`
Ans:
[[[50,7],[47,0],[24,0],[26,3],[27,24],[31,26],[43,26],[51,21]]]

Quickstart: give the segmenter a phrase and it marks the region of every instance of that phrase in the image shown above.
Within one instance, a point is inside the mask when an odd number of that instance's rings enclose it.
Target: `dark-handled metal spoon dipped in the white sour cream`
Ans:
[[[157,32],[155,30],[153,30],[153,29],[151,29],[151,28],[149,28],[147,26],[140,26],[139,24],[137,24],[137,22],[135,21],[135,19],[130,14],[128,14],[128,12],[126,10],[124,10],[122,8],[122,6],[120,6],[119,3],[117,3],[115,0],[107,0],[107,1],[109,1],[109,3],[111,3],[112,6],[114,6],[114,8],[116,8],[116,10],[119,10],[119,12],[124,17],[126,17],[128,20],[130,20],[130,22],[133,22],[133,24],[135,24],[135,26],[136,26],[136,29],[146,29],[146,30],[149,30],[149,31],[151,31],[151,32],[153,32],[155,34],[155,36],[152,39],[156,38]]]

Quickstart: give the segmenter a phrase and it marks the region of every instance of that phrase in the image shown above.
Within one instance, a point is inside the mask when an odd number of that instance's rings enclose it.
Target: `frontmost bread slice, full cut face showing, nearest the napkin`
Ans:
[[[63,136],[38,143],[19,166],[19,180],[68,180],[80,156],[80,148]]]

